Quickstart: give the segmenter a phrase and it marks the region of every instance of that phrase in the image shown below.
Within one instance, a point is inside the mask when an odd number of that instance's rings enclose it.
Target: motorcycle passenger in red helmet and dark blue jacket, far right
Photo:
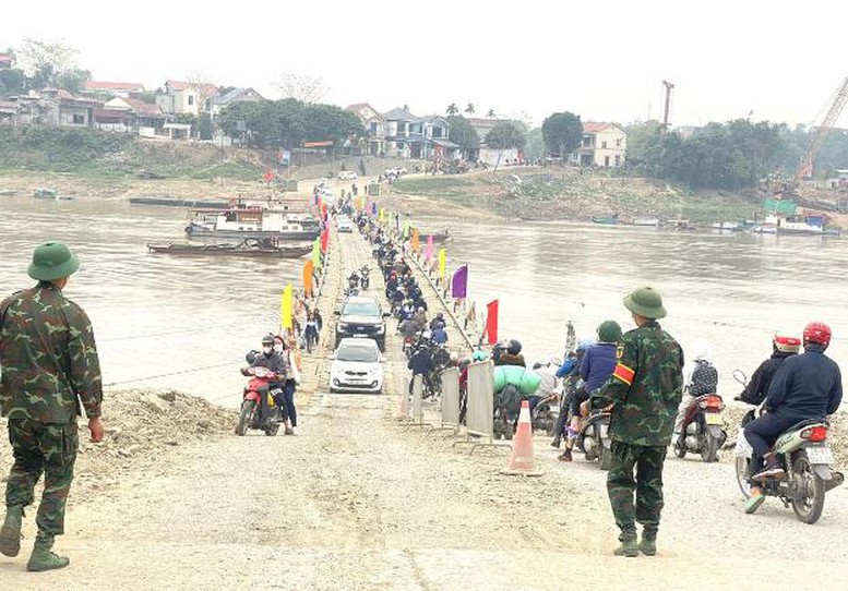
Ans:
[[[784,467],[772,445],[785,430],[809,419],[824,420],[836,412],[843,400],[839,365],[825,357],[831,343],[831,327],[812,322],[804,327],[804,352],[789,357],[774,376],[763,406],[765,412],[744,427],[744,435],[753,448],[751,482],[781,478]],[[745,512],[754,512],[765,500],[762,491],[745,502]]]

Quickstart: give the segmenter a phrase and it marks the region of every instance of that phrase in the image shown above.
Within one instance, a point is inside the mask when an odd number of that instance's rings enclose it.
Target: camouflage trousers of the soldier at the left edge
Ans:
[[[76,421],[41,423],[29,419],[9,420],[14,465],[5,485],[5,504],[32,505],[35,485],[44,473],[44,494],[35,518],[41,534],[64,532],[64,504],[71,490],[80,444],[76,429]]]

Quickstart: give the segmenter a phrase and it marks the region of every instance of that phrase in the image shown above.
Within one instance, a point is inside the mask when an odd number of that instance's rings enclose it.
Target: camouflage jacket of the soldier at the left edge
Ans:
[[[0,303],[0,410],[5,417],[67,423],[100,415],[103,381],[83,310],[50,282]]]

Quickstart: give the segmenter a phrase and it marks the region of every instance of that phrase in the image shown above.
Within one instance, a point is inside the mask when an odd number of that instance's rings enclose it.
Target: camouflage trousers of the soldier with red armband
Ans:
[[[611,453],[607,494],[616,524],[621,530],[620,539],[636,538],[636,521],[644,526],[645,531],[656,533],[659,514],[662,511],[666,446],[630,445],[613,441]]]

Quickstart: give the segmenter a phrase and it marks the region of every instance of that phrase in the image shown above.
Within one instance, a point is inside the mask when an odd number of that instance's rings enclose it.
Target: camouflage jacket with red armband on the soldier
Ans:
[[[592,408],[614,405],[609,433],[631,445],[668,445],[683,391],[683,350],[650,321],[618,343],[610,378],[592,394]]]

